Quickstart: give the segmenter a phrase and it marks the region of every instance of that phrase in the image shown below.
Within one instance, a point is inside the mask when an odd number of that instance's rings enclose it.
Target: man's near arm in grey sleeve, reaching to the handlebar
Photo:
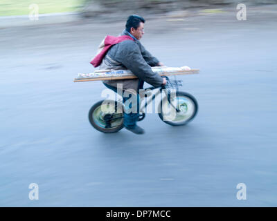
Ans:
[[[123,50],[116,53],[117,61],[148,84],[152,84],[152,86],[160,86],[163,84],[163,77],[152,71],[151,67],[141,55],[141,50],[137,44],[133,41],[123,41],[120,44],[122,44]]]

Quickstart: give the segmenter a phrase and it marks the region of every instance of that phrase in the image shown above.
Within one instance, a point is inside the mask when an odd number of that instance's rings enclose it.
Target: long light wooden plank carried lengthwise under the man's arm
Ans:
[[[175,73],[164,73],[161,76],[171,76],[171,75],[193,75],[199,73],[199,69],[184,70]],[[111,76],[111,77],[80,77],[75,78],[74,82],[84,82],[84,81],[103,81],[103,80],[119,80],[119,79],[136,79],[136,75],[129,76]]]

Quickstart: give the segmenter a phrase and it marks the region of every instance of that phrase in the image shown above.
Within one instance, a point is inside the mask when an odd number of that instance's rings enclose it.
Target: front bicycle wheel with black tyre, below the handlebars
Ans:
[[[181,126],[193,120],[197,114],[197,100],[189,93],[179,91],[176,93],[175,97],[172,97],[171,102],[179,112],[169,104],[167,97],[165,97],[160,104],[161,113],[159,113],[159,117],[166,124]]]

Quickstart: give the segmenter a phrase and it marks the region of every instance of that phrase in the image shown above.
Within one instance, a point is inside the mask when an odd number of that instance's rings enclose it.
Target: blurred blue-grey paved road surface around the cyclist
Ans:
[[[87,113],[104,86],[73,83],[124,21],[1,29],[0,206],[276,206],[277,15],[235,13],[145,23],[153,55],[201,70],[178,77],[199,102],[195,120],[147,115],[145,135],[94,130]]]

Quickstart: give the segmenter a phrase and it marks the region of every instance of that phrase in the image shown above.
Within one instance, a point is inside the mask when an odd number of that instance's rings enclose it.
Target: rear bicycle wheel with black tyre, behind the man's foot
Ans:
[[[89,110],[89,122],[96,130],[103,133],[116,133],[123,128],[123,113],[118,102],[102,100]]]

